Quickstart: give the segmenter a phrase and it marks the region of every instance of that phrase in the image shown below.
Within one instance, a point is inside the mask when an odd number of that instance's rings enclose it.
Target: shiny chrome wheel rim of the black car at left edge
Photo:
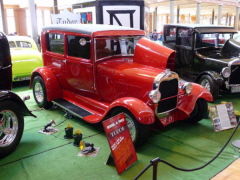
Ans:
[[[17,136],[18,119],[10,110],[0,112],[0,147],[10,145]]]

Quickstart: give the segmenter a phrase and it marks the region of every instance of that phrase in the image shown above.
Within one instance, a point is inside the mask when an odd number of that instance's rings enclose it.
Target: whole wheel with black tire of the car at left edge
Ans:
[[[23,113],[14,101],[0,103],[0,158],[18,146],[24,129]]]

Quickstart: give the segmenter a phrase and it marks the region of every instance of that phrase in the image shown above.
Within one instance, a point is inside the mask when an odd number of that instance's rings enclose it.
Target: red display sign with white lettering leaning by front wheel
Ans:
[[[103,126],[117,172],[121,174],[137,161],[136,151],[124,114],[121,113],[105,120]]]

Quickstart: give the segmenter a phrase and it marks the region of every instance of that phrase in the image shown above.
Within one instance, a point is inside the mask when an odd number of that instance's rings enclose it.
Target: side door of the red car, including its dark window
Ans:
[[[71,91],[87,97],[95,96],[90,38],[81,35],[67,35],[66,43],[68,50],[65,76]]]

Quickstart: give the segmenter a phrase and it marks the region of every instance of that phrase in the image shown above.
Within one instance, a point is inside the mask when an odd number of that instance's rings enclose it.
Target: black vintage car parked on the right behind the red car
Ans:
[[[216,99],[240,93],[240,43],[229,26],[164,25],[163,45],[176,50],[175,71],[207,88]]]

